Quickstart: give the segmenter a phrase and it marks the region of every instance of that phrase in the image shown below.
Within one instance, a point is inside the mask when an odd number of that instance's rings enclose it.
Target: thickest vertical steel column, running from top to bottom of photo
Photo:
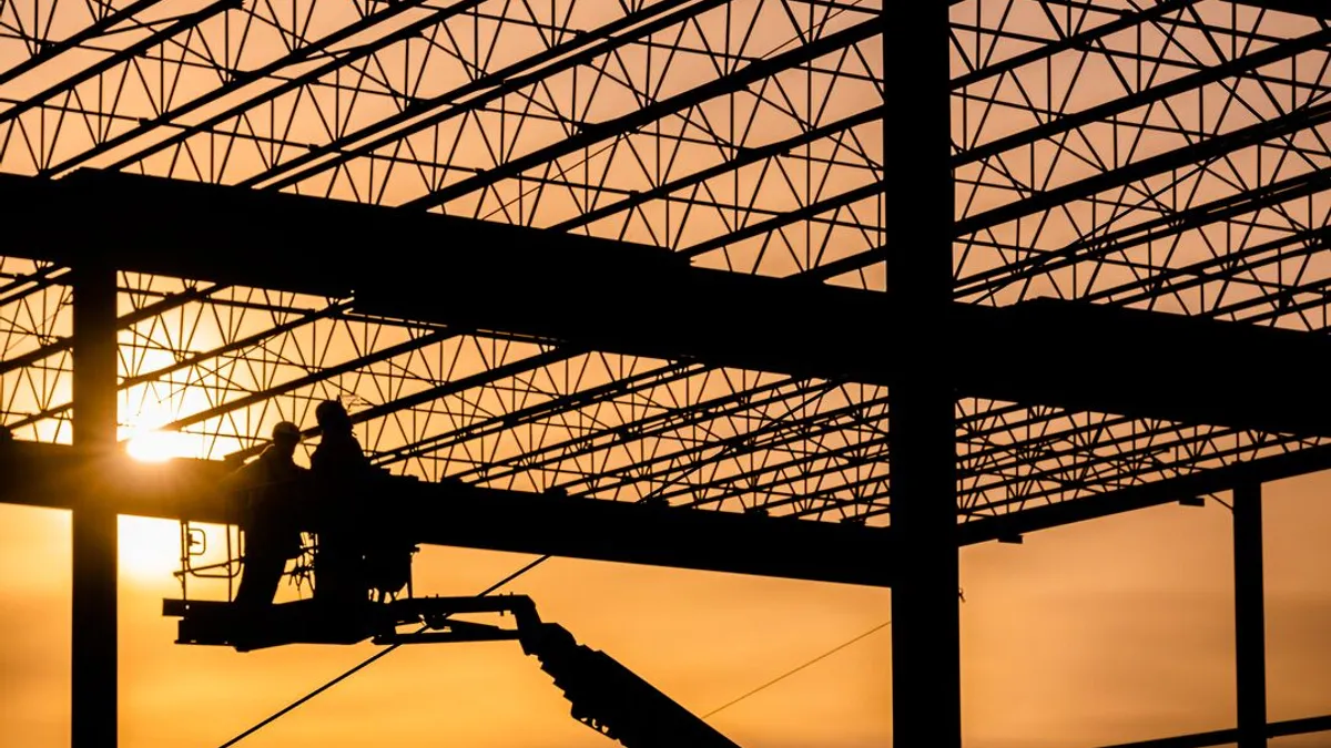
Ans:
[[[892,719],[897,748],[961,745],[949,3],[884,3],[882,162],[892,330]]]

